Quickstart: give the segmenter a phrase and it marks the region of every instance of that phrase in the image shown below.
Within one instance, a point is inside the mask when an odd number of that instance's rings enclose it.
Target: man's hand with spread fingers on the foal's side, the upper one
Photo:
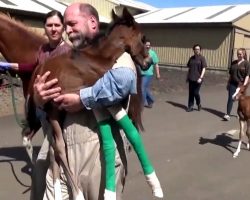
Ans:
[[[46,72],[44,75],[38,75],[33,85],[34,101],[37,106],[43,106],[48,101],[58,97],[61,92],[60,87],[52,88],[57,82],[57,79],[52,79],[46,82],[50,72]]]

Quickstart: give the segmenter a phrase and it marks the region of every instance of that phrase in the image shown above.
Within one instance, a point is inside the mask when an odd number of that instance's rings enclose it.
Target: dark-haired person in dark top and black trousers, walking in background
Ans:
[[[195,44],[193,46],[194,55],[188,60],[187,82],[189,83],[188,107],[187,112],[193,111],[194,99],[196,101],[198,111],[201,110],[200,88],[205,75],[207,62],[201,55],[201,46]]]

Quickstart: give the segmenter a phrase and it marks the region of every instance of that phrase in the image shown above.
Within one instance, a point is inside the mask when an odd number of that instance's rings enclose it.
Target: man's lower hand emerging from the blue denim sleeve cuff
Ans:
[[[54,102],[59,104],[59,109],[64,109],[67,112],[78,112],[82,110],[83,104],[79,94],[62,94],[54,98]]]

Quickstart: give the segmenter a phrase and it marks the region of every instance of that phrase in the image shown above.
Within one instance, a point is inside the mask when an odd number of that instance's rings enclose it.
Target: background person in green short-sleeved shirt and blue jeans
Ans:
[[[154,96],[150,91],[151,83],[153,80],[154,69],[156,72],[156,78],[160,79],[160,69],[159,69],[159,58],[154,50],[151,49],[151,43],[147,39],[145,43],[145,47],[148,50],[149,56],[152,59],[152,63],[148,70],[141,70],[142,75],[142,98],[144,107],[152,108],[154,104]]]

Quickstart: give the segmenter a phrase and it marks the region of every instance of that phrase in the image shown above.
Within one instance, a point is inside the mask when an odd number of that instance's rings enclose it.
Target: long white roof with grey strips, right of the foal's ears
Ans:
[[[250,13],[250,4],[163,8],[136,15],[139,23],[221,23],[234,22]]]

